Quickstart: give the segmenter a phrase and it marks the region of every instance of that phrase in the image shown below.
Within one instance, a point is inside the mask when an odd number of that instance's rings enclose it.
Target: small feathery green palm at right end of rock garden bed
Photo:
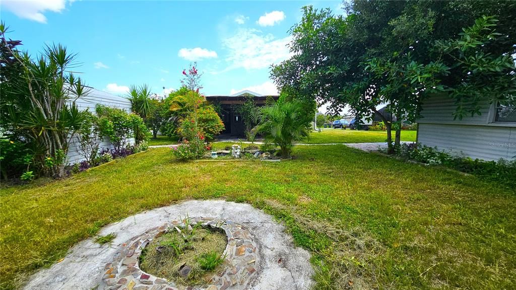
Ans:
[[[294,142],[309,134],[307,118],[304,116],[303,103],[299,100],[287,101],[280,95],[278,101],[268,99],[263,107],[253,110],[251,117],[257,125],[252,128],[251,136],[262,134],[266,143],[280,147],[283,158],[290,157]]]

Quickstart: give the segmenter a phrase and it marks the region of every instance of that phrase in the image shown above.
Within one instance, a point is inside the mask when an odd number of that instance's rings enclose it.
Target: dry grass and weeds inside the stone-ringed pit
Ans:
[[[174,227],[154,238],[140,255],[140,269],[176,284],[206,284],[223,270],[227,244],[220,229],[187,221],[184,228]]]

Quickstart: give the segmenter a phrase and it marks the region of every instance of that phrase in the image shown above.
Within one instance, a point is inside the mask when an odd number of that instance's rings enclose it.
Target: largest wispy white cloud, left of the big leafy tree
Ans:
[[[291,40],[291,36],[275,39],[272,34],[263,35],[260,30],[239,29],[234,36],[222,40],[222,45],[228,50],[225,60],[231,63],[224,71],[268,68],[272,63],[292,56],[286,47]]]

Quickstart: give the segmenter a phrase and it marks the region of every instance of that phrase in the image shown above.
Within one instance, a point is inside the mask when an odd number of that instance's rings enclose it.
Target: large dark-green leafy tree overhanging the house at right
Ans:
[[[410,120],[438,91],[454,99],[458,118],[482,102],[510,99],[514,2],[357,0],[347,3],[346,17],[303,9],[291,29],[294,56],[272,70],[282,89],[336,110],[349,105],[359,117],[378,114],[385,103],[389,114]],[[396,125],[378,115],[389,129]]]

